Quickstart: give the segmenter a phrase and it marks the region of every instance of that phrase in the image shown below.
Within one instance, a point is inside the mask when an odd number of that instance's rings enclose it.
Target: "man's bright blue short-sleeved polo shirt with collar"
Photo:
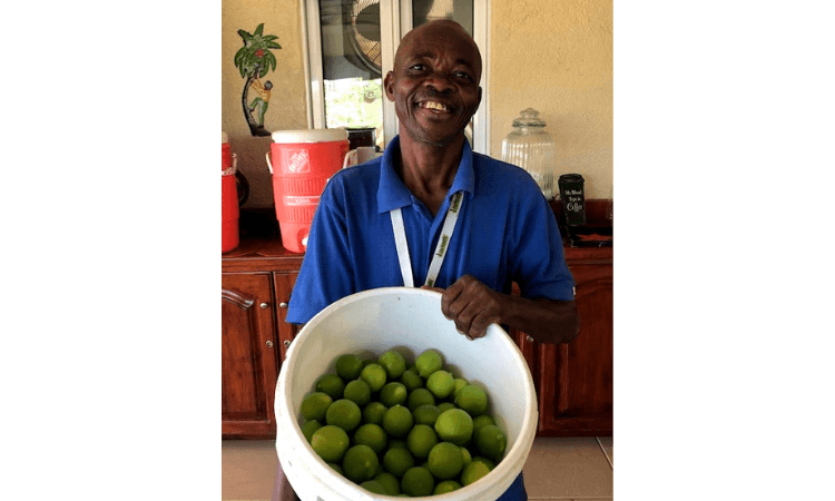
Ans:
[[[287,322],[304,324],[351,294],[403,286],[390,210],[397,207],[415,286],[423,285],[451,196],[464,191],[435,286],[472,275],[494,291],[519,284],[523,297],[573,299],[557,220],[523,169],[475,154],[464,141],[458,173],[438,214],[397,177],[400,138],[382,157],[336,173],[322,194]]]

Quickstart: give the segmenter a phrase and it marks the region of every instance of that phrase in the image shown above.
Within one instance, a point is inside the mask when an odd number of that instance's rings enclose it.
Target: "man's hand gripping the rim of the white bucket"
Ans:
[[[446,289],[432,289],[443,293],[441,312],[470,340],[483,337],[490,324],[501,321],[504,295],[471,275],[462,276]]]

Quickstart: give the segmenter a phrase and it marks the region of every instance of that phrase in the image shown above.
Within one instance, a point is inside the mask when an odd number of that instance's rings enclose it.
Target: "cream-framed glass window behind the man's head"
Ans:
[[[385,147],[397,134],[397,117],[383,76],[400,39],[426,21],[453,19],[481,50],[482,101],[466,134],[473,150],[488,153],[487,0],[304,1],[311,127],[374,129],[377,146]]]

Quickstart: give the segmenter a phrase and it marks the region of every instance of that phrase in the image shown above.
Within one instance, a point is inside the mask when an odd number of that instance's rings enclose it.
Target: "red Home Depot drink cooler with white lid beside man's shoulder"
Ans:
[[[346,129],[273,132],[267,167],[273,175],[275,216],[287,250],[305,252],[320,196],[331,176],[342,168],[347,153]]]

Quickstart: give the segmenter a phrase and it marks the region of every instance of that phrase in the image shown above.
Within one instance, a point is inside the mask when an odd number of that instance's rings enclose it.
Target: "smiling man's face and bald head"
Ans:
[[[415,141],[446,146],[463,135],[479,109],[480,79],[475,43],[461,28],[439,22],[403,39],[384,88],[401,131]]]

